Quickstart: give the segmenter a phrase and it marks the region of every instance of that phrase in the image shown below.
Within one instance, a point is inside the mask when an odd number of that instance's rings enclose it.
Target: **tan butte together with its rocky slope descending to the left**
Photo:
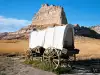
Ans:
[[[30,32],[36,29],[44,29],[48,26],[67,24],[63,7],[43,4],[34,15],[32,24],[16,32],[0,33],[0,39],[28,39]]]

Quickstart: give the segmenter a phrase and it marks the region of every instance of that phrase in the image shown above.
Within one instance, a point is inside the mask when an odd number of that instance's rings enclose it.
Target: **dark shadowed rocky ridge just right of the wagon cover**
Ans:
[[[94,31],[91,27],[89,28],[89,27],[79,26],[78,24],[75,24],[74,31],[75,31],[75,35],[86,36],[86,37],[97,38],[97,39],[100,38],[100,34]]]

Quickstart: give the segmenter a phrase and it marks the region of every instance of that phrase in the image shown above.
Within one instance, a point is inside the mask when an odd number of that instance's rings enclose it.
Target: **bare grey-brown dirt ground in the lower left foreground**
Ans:
[[[19,57],[0,57],[0,75],[55,75],[22,63]]]

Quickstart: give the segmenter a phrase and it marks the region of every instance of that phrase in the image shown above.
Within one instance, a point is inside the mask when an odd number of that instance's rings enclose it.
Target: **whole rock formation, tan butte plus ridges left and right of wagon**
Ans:
[[[0,39],[28,39],[30,32],[33,30],[45,29],[48,26],[59,26],[67,24],[67,19],[63,7],[43,4],[40,10],[35,14],[32,24],[16,32],[0,33]],[[88,36],[93,38],[100,38],[100,26],[93,26],[87,28],[74,25],[75,35]]]

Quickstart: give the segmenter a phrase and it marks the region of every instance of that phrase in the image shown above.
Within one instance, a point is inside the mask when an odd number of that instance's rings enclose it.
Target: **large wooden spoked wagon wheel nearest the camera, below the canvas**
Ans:
[[[57,49],[46,49],[43,54],[43,61],[48,62],[49,66],[53,69],[57,69],[60,65],[60,52]]]

